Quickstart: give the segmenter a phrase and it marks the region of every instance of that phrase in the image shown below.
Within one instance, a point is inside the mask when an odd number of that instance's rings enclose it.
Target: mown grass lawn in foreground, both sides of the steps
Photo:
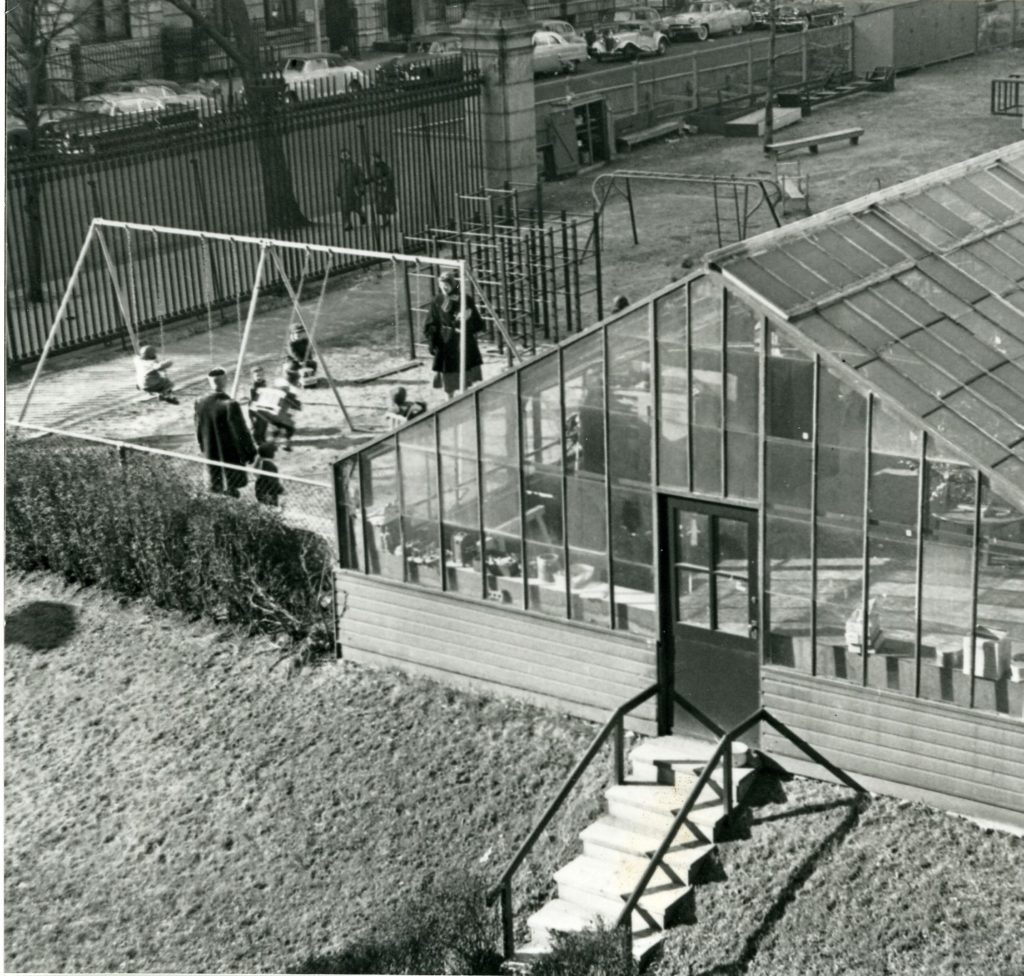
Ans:
[[[8,971],[328,956],[446,862],[494,878],[594,732],[345,664],[288,681],[268,645],[8,578],[8,622],[37,600],[73,607],[75,631],[31,649],[8,627]],[[601,786],[542,842],[522,898]],[[806,780],[754,802],[657,973],[1024,972],[1024,842]]]

